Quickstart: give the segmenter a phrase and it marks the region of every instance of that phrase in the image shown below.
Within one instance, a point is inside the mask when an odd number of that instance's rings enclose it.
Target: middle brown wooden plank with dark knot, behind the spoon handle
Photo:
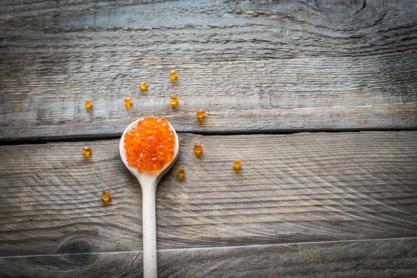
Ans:
[[[160,250],[417,236],[416,131],[179,138],[156,193]],[[141,250],[140,186],[118,140],[3,146],[0,157],[0,256]]]

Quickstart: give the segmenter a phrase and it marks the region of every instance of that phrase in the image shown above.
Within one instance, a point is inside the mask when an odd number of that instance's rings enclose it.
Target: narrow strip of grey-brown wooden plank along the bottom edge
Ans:
[[[158,277],[416,277],[416,238],[158,252]],[[0,258],[1,277],[142,277],[142,252]]]

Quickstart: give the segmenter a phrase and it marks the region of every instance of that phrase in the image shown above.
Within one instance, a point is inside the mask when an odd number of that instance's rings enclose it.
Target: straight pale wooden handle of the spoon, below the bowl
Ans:
[[[156,186],[142,185],[143,277],[158,277],[156,264]]]

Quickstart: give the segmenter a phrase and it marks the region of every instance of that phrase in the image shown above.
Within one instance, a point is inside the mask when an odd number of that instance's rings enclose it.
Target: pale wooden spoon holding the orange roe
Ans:
[[[143,119],[143,118],[142,118]],[[139,119],[139,120],[142,120]],[[140,186],[142,187],[142,233],[143,233],[143,275],[145,278],[156,278],[158,277],[158,268],[156,264],[156,215],[155,215],[155,195],[156,186],[161,180],[164,174],[166,174],[177,161],[179,142],[177,132],[169,124],[170,129],[174,131],[175,143],[174,143],[174,158],[170,163],[167,163],[161,170],[153,174],[149,172],[139,172],[136,167],[133,167],[127,163],[126,151],[124,149],[124,134],[129,132],[133,126],[138,124],[138,121],[132,122],[127,126],[120,139],[120,156],[124,165],[127,169],[135,175],[138,179]]]

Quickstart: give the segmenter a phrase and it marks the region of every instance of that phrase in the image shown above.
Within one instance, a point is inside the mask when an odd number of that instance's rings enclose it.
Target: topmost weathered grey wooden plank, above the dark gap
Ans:
[[[0,3],[3,140],[417,127],[416,1],[27,2]]]

